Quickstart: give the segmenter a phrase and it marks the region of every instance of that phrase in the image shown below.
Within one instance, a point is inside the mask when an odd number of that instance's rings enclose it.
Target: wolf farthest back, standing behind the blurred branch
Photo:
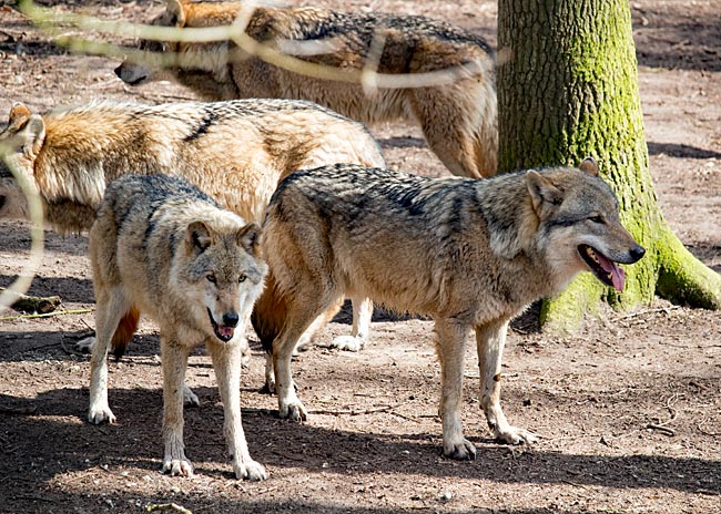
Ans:
[[[243,10],[245,8],[245,10]],[[313,63],[360,71],[376,35],[384,39],[377,71],[419,74],[473,68],[451,83],[424,88],[377,89],[315,79],[268,64],[233,42],[141,42],[148,52],[177,59],[169,73],[207,100],[237,97],[304,99],[354,120],[375,124],[396,119],[417,123],[430,150],[450,173],[490,176],[497,165],[495,55],[467,30],[422,16],[349,13],[312,7],[254,7],[244,2],[169,0],[153,24],[202,28],[232,24],[247,14],[246,33]],[[304,49],[316,48],[314,52]],[[297,49],[297,50],[296,50]],[[153,70],[155,68],[155,70]],[[153,56],[133,56],[115,73],[128,84],[164,76]]]

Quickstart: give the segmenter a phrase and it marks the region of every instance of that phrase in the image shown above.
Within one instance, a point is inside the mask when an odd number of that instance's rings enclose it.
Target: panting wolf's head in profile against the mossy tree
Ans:
[[[646,249],[621,225],[616,196],[599,177],[596,162],[587,158],[579,169],[526,173],[539,219],[537,247],[557,275],[556,284],[586,270],[621,291],[624,274],[618,263],[636,263]]]

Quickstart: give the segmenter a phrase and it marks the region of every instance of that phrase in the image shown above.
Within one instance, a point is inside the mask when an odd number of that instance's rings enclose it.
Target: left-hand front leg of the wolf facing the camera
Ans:
[[[161,333],[163,368],[163,472],[173,476],[193,476],[193,464],[185,458],[183,444],[183,391],[187,349],[174,338]]]

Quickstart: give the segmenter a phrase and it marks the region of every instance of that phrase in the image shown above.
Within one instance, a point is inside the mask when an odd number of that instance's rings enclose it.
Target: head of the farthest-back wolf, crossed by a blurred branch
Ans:
[[[191,2],[167,0],[165,11],[152,21],[155,27],[183,29],[185,27],[230,25],[242,6],[240,2]],[[141,40],[139,52],[122,62],[114,71],[129,85],[139,85],[165,76],[164,69],[216,71],[227,64],[224,52],[227,43],[193,43],[177,41]],[[219,62],[216,62],[219,61]],[[220,62],[223,61],[223,62]]]

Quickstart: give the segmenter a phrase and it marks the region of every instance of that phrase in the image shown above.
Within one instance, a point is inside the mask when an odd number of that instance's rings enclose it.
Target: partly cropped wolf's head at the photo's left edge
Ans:
[[[10,110],[8,126],[0,132],[0,216],[24,216],[28,204],[11,173],[20,173],[34,186],[35,158],[45,140],[45,125],[21,103]]]

